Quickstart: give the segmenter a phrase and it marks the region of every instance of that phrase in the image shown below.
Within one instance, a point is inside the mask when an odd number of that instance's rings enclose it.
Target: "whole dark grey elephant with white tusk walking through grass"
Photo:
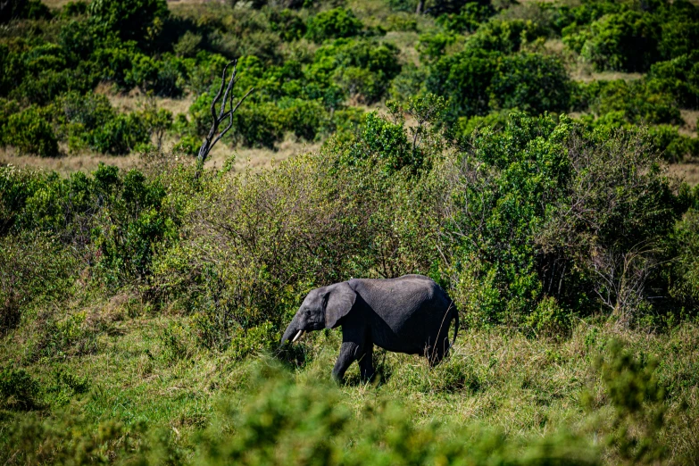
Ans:
[[[454,340],[449,342],[452,322]],[[430,365],[448,354],[459,329],[454,302],[434,280],[422,275],[397,279],[351,279],[312,290],[289,323],[281,345],[304,332],[342,326],[342,347],[332,375],[338,381],[354,361],[364,380],[374,377],[373,346],[422,354]]]

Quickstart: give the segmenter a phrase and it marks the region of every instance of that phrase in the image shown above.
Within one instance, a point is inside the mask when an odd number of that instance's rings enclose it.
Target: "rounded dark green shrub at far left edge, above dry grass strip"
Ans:
[[[4,144],[14,146],[21,154],[37,154],[41,157],[58,155],[58,138],[46,112],[31,106],[14,113],[7,119]]]

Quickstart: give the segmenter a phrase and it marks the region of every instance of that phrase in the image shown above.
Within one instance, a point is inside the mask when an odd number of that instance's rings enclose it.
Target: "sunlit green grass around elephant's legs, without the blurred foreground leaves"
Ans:
[[[189,318],[179,315],[138,315],[125,300],[72,311],[81,317],[83,335],[94,337],[94,349],[80,354],[79,343],[38,359],[35,346],[41,319],[25,321],[5,337],[0,360],[22,367],[39,382],[41,419],[61,419],[79,413],[83,429],[98,430],[118,422],[138,437],[139,426],[165,429],[185,458],[193,457],[200,432],[220,414],[222,401],[244,407],[260,393],[250,393],[255,365],[273,355],[237,361],[231,352],[213,353],[196,344]],[[59,313],[58,311],[54,311]],[[46,321],[46,320],[44,320]],[[59,326],[60,327],[60,326]],[[167,331],[166,329],[171,329]],[[172,330],[174,329],[174,330]],[[699,457],[699,331],[685,323],[667,333],[614,329],[611,323],[580,321],[564,341],[525,337],[507,329],[463,330],[450,359],[429,370],[417,356],[379,350],[375,362],[379,380],[362,384],[354,366],[338,403],[350,416],[362,417],[367,406],[398,402],[418,428],[445,431],[482,426],[506,438],[536,442],[557,432],[572,432],[591,448],[613,430],[614,409],[595,361],[609,354],[612,339],[641,361],[658,361],[654,374],[665,387],[665,424],[658,440],[667,459],[683,463]],[[170,336],[170,337],[169,337]],[[78,340],[79,341],[79,340]],[[295,359],[281,357],[283,372],[299,387],[326,387],[340,343],[339,332],[304,337]],[[88,382],[87,391],[74,393],[56,373],[62,371]],[[334,388],[329,388],[336,390]],[[263,395],[263,394],[262,394]],[[6,406],[5,406],[6,407]],[[12,464],[18,445],[8,437],[10,426],[32,412],[2,411],[0,460]],[[361,436],[360,436],[361,437]],[[598,445],[603,446],[603,445]],[[620,461],[613,447],[603,448],[603,460]]]

